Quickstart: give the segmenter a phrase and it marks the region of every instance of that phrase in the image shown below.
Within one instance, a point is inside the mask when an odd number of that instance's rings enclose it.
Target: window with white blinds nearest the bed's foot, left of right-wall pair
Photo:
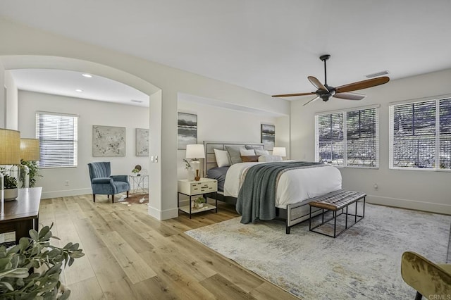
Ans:
[[[346,167],[378,167],[376,107],[316,115],[316,161]]]

